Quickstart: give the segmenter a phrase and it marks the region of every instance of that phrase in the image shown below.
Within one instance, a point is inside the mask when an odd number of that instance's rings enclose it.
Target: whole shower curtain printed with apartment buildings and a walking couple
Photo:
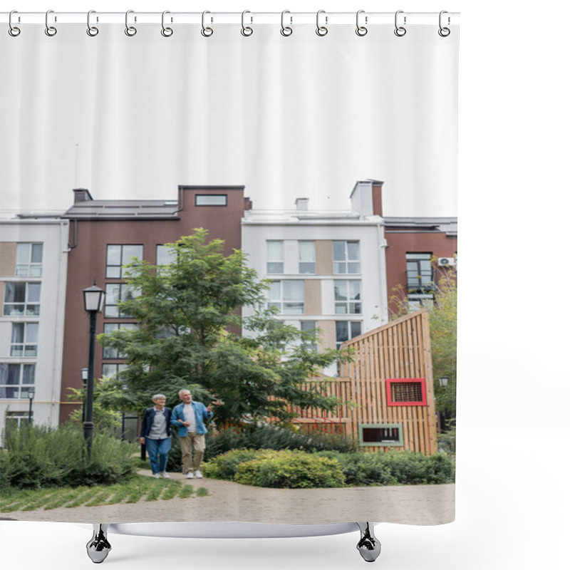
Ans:
[[[70,489],[100,486],[78,506],[58,489],[2,516],[451,522],[458,15],[2,16],[1,445],[40,426],[88,440],[79,463],[130,445],[143,489],[78,469]],[[255,271],[225,312],[220,257]],[[136,259],[155,269],[135,282]],[[196,278],[180,297],[173,267]],[[173,299],[203,311],[169,321]]]

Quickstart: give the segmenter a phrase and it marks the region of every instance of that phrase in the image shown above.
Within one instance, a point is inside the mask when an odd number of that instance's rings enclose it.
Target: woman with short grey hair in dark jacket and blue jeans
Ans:
[[[147,447],[152,477],[170,479],[166,472],[166,462],[170,451],[170,418],[172,410],[165,408],[166,396],[152,396],[155,405],[147,408],[140,424],[140,442]]]

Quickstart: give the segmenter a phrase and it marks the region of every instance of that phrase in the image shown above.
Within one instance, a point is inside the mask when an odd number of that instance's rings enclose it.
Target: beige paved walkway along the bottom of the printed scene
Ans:
[[[140,471],[150,475],[150,471]],[[455,484],[266,489],[214,479],[172,479],[205,487],[207,497],[189,497],[99,507],[14,511],[0,518],[51,522],[240,521],[267,524],[327,524],[347,521],[443,524],[455,518]]]

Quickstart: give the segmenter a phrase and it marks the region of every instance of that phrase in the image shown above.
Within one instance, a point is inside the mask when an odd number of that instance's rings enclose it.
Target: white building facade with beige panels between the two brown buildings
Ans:
[[[373,214],[373,185],[382,182],[357,182],[351,210],[311,210],[298,198],[295,210],[251,209],[242,219],[248,265],[271,280],[269,306],[286,323],[320,329],[320,348],[388,322],[384,223]]]

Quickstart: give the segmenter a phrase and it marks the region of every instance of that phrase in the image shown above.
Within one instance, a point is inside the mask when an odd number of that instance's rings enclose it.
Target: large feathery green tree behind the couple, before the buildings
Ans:
[[[267,283],[247,267],[242,252],[224,255],[224,242],[209,240],[204,229],[167,247],[169,265],[127,266],[126,281],[137,294],[121,309],[138,329],[98,336],[125,356],[129,366],[121,377],[136,408],[158,392],[167,395],[168,405],[179,403],[180,388],[190,388],[204,403],[217,400],[219,422],[244,416],[287,421],[296,407],[338,405],[321,395],[319,383],[307,390],[305,380],[346,356],[313,351],[310,332],[276,320],[266,309]],[[253,317],[242,318],[245,306],[254,308]]]

